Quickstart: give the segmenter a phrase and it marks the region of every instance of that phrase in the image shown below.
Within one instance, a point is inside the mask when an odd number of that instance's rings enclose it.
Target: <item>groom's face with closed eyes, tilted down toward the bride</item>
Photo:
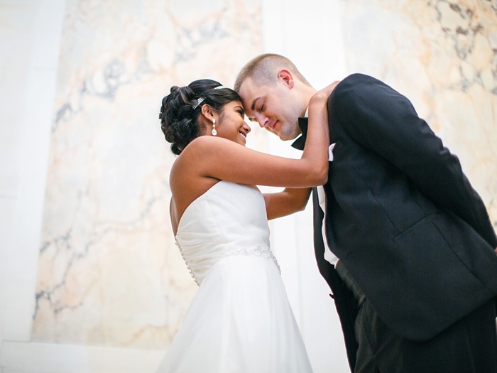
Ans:
[[[300,109],[293,90],[278,80],[274,85],[257,85],[249,77],[239,89],[245,114],[251,121],[277,135],[281,140],[292,140],[300,134]]]

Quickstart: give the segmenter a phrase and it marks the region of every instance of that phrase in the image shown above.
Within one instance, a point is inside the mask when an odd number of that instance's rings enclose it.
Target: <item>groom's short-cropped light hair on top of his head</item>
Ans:
[[[257,85],[273,85],[278,79],[278,71],[286,69],[301,82],[309,85],[309,82],[300,73],[297,67],[288,58],[275,53],[265,53],[252,58],[238,73],[234,90],[238,92],[241,84],[251,78]]]

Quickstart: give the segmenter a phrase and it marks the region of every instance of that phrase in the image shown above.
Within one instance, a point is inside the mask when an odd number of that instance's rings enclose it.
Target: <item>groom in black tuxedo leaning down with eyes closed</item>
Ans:
[[[280,55],[235,82],[247,117],[303,148],[314,88]],[[410,101],[346,77],[328,100],[329,178],[313,193],[317,264],[352,372],[497,372],[497,237]]]

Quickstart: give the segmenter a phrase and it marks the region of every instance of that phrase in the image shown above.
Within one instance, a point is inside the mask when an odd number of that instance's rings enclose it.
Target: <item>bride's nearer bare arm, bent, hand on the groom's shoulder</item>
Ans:
[[[188,162],[190,171],[199,173],[204,178],[288,188],[323,185],[328,177],[326,102],[336,85],[337,82],[334,82],[310,99],[309,129],[300,159],[261,153],[214,136],[195,139],[185,148],[182,156],[195,160]]]

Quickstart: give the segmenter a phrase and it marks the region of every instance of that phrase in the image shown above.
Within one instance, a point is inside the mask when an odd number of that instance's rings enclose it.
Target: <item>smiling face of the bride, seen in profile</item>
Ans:
[[[217,136],[245,145],[247,134],[251,131],[245,122],[244,107],[239,101],[224,105],[219,120],[216,122]]]

